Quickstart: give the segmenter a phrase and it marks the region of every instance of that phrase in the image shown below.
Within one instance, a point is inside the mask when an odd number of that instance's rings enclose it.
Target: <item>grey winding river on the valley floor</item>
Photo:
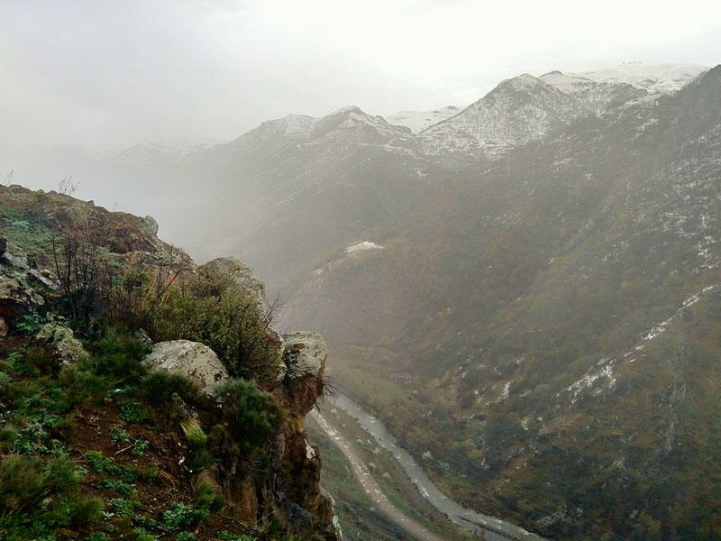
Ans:
[[[490,541],[543,540],[543,537],[532,534],[522,527],[510,524],[501,518],[490,517],[473,509],[464,508],[458,502],[450,499],[434,485],[415,458],[398,445],[397,439],[388,432],[388,428],[382,421],[340,393],[332,399],[332,403],[336,408],[341,408],[348,413],[360,427],[373,436],[378,445],[392,454],[421,495],[454,524]]]

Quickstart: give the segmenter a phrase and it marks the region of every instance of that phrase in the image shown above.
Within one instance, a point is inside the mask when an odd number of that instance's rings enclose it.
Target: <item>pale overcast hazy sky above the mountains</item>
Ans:
[[[466,105],[521,72],[721,62],[716,1],[0,0],[0,174],[288,113]]]

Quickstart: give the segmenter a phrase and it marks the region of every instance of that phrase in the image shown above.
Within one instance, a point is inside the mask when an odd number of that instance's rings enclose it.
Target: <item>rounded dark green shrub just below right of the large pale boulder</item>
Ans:
[[[283,411],[254,382],[227,381],[217,390],[217,398],[223,404],[225,424],[242,452],[263,448],[278,434]]]

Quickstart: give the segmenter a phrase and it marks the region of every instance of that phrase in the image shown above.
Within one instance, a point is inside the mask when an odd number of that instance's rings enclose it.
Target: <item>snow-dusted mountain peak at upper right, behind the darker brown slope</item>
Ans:
[[[693,65],[623,64],[579,74],[552,71],[510,78],[458,115],[420,134],[425,153],[453,160],[488,160],[537,141],[576,118],[643,97],[669,94],[706,71]]]

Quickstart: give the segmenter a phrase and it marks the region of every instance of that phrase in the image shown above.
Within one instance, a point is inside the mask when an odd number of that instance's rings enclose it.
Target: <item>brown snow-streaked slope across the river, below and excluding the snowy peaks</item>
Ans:
[[[379,413],[528,527],[714,538],[716,516],[680,501],[710,499],[718,474],[718,425],[698,416],[719,406],[719,83],[716,68],[443,182],[368,239],[382,250],[309,277],[285,321],[417,390]]]

